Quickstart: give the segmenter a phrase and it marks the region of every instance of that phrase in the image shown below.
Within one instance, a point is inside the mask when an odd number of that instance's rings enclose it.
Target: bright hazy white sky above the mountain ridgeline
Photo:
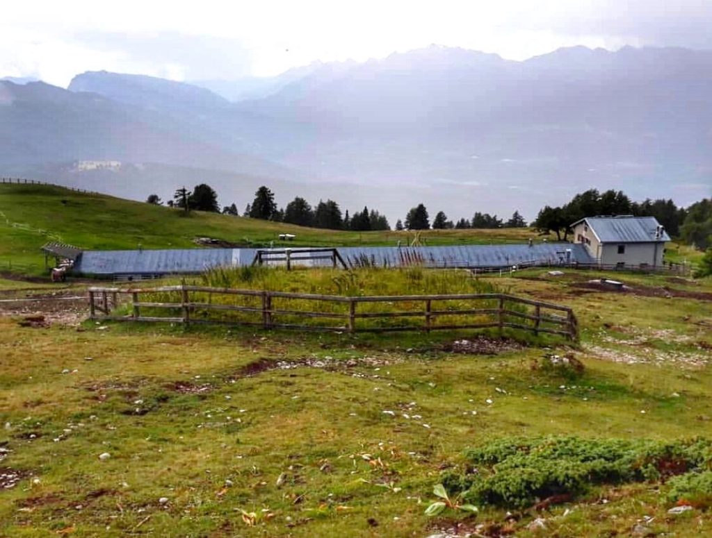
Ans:
[[[0,77],[274,75],[437,43],[524,59],[566,45],[712,48],[712,0],[24,0],[0,4]]]

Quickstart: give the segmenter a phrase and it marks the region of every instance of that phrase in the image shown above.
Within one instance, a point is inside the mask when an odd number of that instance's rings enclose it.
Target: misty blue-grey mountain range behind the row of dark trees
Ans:
[[[281,204],[334,198],[392,220],[419,202],[454,219],[532,218],[592,186],[687,205],[712,193],[711,149],[706,50],[574,47],[517,62],[432,45],[261,79],[0,82],[0,175],[137,199],[213,177],[224,204],[265,183]]]

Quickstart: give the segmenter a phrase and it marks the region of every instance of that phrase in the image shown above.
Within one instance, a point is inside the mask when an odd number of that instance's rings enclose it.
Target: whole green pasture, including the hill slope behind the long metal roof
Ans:
[[[318,246],[413,234],[186,217],[37,185],[0,185],[0,232],[2,537],[712,536],[712,278],[244,268],[147,284],[507,293],[572,307],[575,343],[516,330],[103,323],[83,321],[73,298],[88,284],[38,278],[44,242],[267,244],[290,232],[290,244]],[[666,256],[698,254],[671,244]],[[62,296],[71,301],[52,302]]]

